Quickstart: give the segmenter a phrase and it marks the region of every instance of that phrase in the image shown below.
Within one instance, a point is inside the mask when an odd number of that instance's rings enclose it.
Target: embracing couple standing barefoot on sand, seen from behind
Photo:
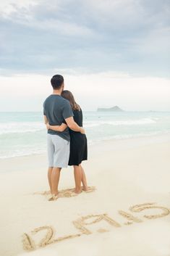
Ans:
[[[43,103],[43,115],[48,130],[48,183],[51,198],[58,198],[61,168],[72,165],[75,175],[75,193],[88,185],[81,162],[88,159],[87,138],[82,128],[82,110],[75,102],[71,91],[64,90],[62,75],[51,78],[53,94]],[[81,187],[82,183],[82,187]]]

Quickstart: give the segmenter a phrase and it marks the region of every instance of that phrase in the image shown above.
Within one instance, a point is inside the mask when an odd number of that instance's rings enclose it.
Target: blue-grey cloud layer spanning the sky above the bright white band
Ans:
[[[168,0],[4,2],[4,74],[85,69],[169,76]]]

